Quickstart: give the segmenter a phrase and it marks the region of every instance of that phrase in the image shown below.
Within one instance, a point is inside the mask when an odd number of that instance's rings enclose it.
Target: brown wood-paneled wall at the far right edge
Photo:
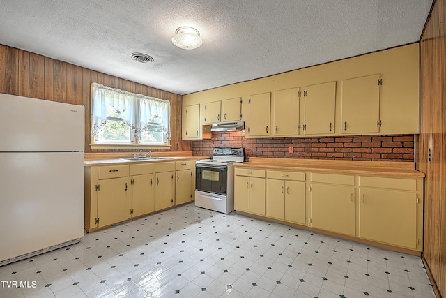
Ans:
[[[424,259],[446,297],[446,0],[436,0],[420,43],[421,123],[417,170],[424,184]],[[429,149],[431,154],[429,156]]]

